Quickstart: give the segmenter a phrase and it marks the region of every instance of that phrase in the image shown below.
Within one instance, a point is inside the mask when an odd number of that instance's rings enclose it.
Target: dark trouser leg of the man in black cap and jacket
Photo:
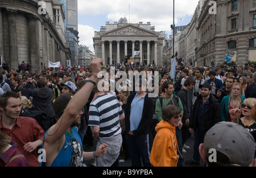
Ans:
[[[195,140],[194,140],[194,152],[193,152],[193,160],[195,162],[200,162],[200,154],[199,154],[199,145],[204,143],[204,135],[200,134],[200,129],[194,130],[195,132]]]

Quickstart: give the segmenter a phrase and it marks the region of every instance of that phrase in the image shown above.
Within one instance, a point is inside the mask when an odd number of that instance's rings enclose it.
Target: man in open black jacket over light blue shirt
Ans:
[[[141,159],[144,167],[150,167],[149,132],[150,123],[154,114],[154,103],[148,93],[144,91],[146,80],[142,78],[136,81],[139,84],[137,93],[127,98],[125,108],[126,143],[131,158],[132,166],[141,167]],[[136,89],[136,85],[135,85]]]

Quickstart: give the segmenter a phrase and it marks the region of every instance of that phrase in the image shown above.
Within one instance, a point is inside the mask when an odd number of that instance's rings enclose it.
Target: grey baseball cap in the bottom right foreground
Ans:
[[[247,167],[251,164],[255,154],[255,141],[253,136],[243,128],[233,122],[218,122],[207,131],[204,137],[204,152],[207,159],[209,150],[214,148],[220,155],[227,158],[218,160],[217,165],[222,167]]]

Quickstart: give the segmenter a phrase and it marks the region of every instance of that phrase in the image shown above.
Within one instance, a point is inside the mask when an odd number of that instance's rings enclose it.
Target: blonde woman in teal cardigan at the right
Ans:
[[[242,84],[234,82],[231,87],[230,96],[225,96],[221,100],[222,121],[230,121],[230,110],[239,108],[245,97],[241,96],[243,92]]]

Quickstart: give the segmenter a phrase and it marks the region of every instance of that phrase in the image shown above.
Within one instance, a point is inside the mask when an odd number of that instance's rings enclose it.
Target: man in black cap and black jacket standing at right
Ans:
[[[204,142],[204,135],[214,126],[215,123],[221,122],[221,105],[220,102],[210,93],[212,86],[208,82],[200,85],[201,94],[197,97],[191,118],[189,119],[189,131],[195,131],[193,159],[187,160],[188,165],[199,165],[200,154],[199,145]]]

